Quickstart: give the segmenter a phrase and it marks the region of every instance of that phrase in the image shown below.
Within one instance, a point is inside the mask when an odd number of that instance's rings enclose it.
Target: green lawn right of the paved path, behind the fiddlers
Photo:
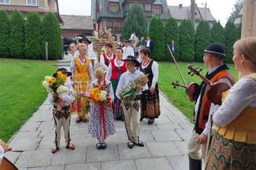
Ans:
[[[176,66],[174,63],[164,63],[159,62],[159,79],[158,84],[162,92],[164,92],[165,96],[168,97],[168,99],[176,106],[178,107],[187,118],[192,122],[192,116],[193,116],[193,107],[194,103],[189,102],[187,99],[187,95],[185,93],[185,89],[183,88],[176,88],[173,89],[173,86],[171,85],[171,82],[173,81],[180,81],[180,83],[183,84],[180,78],[180,74],[176,69]],[[184,75],[185,81],[187,84],[194,81],[198,84],[201,83],[202,79],[198,78],[196,75],[191,77],[189,74],[187,74],[187,64],[188,63],[178,63],[180,66],[180,70],[182,74]],[[192,63],[194,66],[198,66],[203,69],[202,75],[206,74],[206,67],[203,65],[203,63]],[[237,72],[235,70],[235,67],[233,64],[228,64],[228,67],[232,71],[232,74],[237,78]]]

